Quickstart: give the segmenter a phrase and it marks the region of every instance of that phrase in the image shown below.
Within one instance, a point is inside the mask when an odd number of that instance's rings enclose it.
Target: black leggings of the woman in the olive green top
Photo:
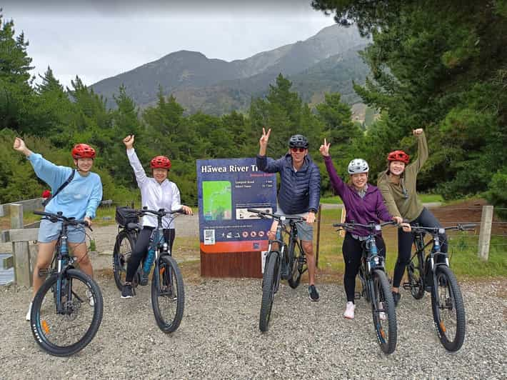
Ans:
[[[438,219],[431,214],[431,211],[428,211],[426,207],[423,209],[421,214],[410,222],[412,226],[418,224],[422,227],[438,227],[441,228],[441,224],[438,222]],[[440,236],[440,250],[442,253],[447,253],[447,236],[446,234],[439,234]],[[398,261],[396,261],[396,266],[394,266],[394,274],[393,274],[393,287],[398,288],[401,284],[401,278],[405,273],[405,267],[410,262],[411,258],[411,250],[412,243],[415,234],[412,232],[403,232],[402,229],[398,229]]]

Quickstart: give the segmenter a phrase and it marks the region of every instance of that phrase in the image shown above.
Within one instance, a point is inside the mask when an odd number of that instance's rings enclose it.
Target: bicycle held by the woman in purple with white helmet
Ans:
[[[396,349],[398,327],[393,294],[391,294],[391,287],[384,268],[385,259],[378,255],[375,233],[380,232],[383,226],[390,224],[396,223],[387,221],[381,224],[354,222],[333,224],[333,227],[340,227],[348,232],[353,232],[358,227],[368,230],[368,236],[362,244],[363,251],[359,267],[359,279],[361,279],[362,286],[360,294],[371,303],[373,327],[376,331],[378,344],[385,354],[392,354]]]

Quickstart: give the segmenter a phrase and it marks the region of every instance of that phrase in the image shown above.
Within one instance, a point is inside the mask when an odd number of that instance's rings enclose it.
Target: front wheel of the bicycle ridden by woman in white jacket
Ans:
[[[159,258],[159,271],[151,279],[151,306],[156,324],[165,333],[178,329],[185,307],[183,276],[176,260],[169,255]]]

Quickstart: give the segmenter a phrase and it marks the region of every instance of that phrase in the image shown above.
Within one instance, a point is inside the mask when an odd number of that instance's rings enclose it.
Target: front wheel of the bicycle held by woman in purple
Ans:
[[[378,344],[386,354],[396,349],[397,326],[393,294],[384,271],[373,270],[373,294],[371,295],[371,311],[373,326],[377,334]]]

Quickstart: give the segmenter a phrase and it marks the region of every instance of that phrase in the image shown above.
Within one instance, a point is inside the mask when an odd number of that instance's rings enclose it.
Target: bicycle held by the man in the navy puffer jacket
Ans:
[[[271,216],[278,220],[276,236],[274,240],[268,240],[268,254],[264,264],[264,275],[262,279],[261,314],[258,327],[262,332],[268,331],[271,309],[273,308],[274,295],[278,291],[280,279],[288,280],[288,285],[296,289],[301,281],[301,275],[308,269],[306,267],[306,256],[298,240],[296,222],[305,219],[294,216],[281,216],[256,209],[248,209],[249,212],[258,214],[261,218]],[[288,222],[289,229],[287,229]],[[288,245],[283,241],[282,234],[288,235]],[[278,243],[278,251],[273,250],[273,243]],[[297,248],[297,249],[296,249]]]

